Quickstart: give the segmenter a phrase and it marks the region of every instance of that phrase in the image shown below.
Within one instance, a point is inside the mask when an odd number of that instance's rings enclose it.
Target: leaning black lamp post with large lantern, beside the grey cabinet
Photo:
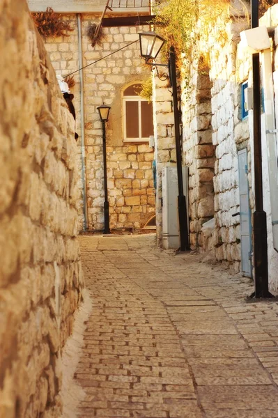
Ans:
[[[185,194],[183,193],[183,166],[180,146],[180,129],[179,129],[179,114],[178,114],[178,93],[176,80],[176,54],[173,47],[170,48],[169,63],[157,64],[153,60],[157,57],[164,45],[164,39],[158,36],[155,32],[139,33],[140,52],[146,63],[153,66],[168,67],[169,79],[173,89],[173,116],[176,139],[176,159],[177,159],[177,173],[178,173],[178,221],[180,226],[180,250],[185,251],[190,249],[188,228],[187,228],[187,209]]]

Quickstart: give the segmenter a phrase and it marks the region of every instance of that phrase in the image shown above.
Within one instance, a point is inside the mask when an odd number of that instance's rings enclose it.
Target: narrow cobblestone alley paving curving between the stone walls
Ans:
[[[154,235],[81,236],[93,310],[78,417],[277,418],[278,304]]]

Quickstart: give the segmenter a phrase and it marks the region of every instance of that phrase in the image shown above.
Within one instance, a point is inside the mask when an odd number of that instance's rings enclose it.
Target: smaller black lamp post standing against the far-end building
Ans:
[[[105,132],[105,123],[108,121],[109,111],[111,107],[107,106],[106,104],[102,104],[101,106],[97,107],[98,112],[100,114],[100,121],[102,121],[102,150],[103,150],[103,172],[105,178],[105,203],[103,205],[104,213],[105,213],[105,229],[104,233],[110,233],[109,227],[109,202],[108,202],[108,192],[107,192],[107,163],[106,163],[106,132]]]

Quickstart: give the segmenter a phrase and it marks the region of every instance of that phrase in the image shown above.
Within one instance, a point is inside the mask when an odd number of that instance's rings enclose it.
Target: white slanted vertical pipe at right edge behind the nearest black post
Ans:
[[[278,166],[277,166],[277,130],[275,122],[275,102],[272,77],[272,54],[264,49],[261,54],[263,70],[263,94],[265,104],[265,130],[268,146],[268,176],[270,182],[270,203],[272,215],[273,245],[278,251]],[[275,74],[276,73],[276,74]],[[274,78],[278,82],[278,73]],[[277,84],[278,86],[278,84]]]

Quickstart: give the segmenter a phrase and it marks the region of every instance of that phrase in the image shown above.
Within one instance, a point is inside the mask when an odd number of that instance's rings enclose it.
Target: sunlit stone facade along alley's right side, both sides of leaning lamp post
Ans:
[[[261,25],[277,26],[277,6],[261,19]],[[252,137],[252,110],[242,115],[242,84],[252,86],[252,55],[242,47],[240,31],[247,22],[219,20],[211,28],[209,42],[196,42],[191,67],[190,86],[181,80],[181,113],[183,130],[183,164],[189,167],[190,245],[192,249],[209,251],[212,258],[225,263],[235,272],[242,270],[242,225],[240,224],[239,153],[246,150],[247,180],[249,187],[250,224],[254,212],[254,150]],[[276,34],[277,29],[275,29]],[[221,35],[221,36],[220,36]],[[198,38],[198,37],[196,37]],[[277,38],[273,38],[275,52],[272,63],[276,70]],[[209,51],[210,65],[203,55]],[[171,127],[173,114],[171,93],[166,84],[157,82],[155,88],[155,144],[157,160],[157,238],[162,242],[161,170],[173,165],[171,150],[174,141]],[[276,88],[276,87],[275,87]],[[162,114],[162,118],[160,117]],[[262,110],[262,127],[265,114]],[[168,123],[166,125],[166,123]],[[273,243],[272,208],[268,178],[268,146],[263,132],[263,187],[264,205],[268,215],[269,281],[277,290],[278,257]],[[164,148],[167,144],[167,149]],[[165,160],[164,160],[165,159]],[[206,222],[214,219],[210,233]],[[203,225],[205,224],[205,228]],[[250,226],[252,238],[252,226]],[[249,256],[252,257],[252,247]],[[252,275],[252,272],[251,274]]]

